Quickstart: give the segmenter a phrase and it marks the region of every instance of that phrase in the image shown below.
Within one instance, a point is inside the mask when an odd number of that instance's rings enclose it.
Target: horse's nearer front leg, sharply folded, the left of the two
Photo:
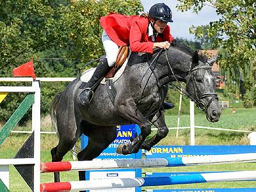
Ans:
[[[151,125],[136,107],[133,99],[117,100],[116,109],[116,113],[129,120],[131,124],[138,124],[141,129],[141,134],[139,136],[135,136],[131,143],[118,145],[116,152],[123,155],[137,153],[140,150],[142,143],[150,134]]]

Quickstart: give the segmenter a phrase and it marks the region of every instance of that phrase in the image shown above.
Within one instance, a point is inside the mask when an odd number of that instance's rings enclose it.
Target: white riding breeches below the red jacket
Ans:
[[[116,57],[118,54],[118,45],[116,45],[115,42],[113,42],[109,38],[108,34],[104,30],[102,33],[101,40],[102,40],[103,47],[106,52],[106,58],[108,60],[108,65],[109,65],[109,67],[112,67],[113,65],[115,65]]]

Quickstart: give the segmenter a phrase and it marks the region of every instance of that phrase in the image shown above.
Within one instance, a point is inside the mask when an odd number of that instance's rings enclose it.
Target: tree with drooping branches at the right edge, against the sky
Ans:
[[[214,46],[221,47],[218,64],[228,74],[228,86],[236,82],[236,95],[239,94],[239,81],[242,74],[245,98],[256,98],[256,3],[254,0],[178,0],[179,10],[192,9],[200,12],[204,6],[216,8],[221,15],[219,20],[209,23],[209,26],[192,26],[191,33],[197,38],[207,35],[212,38]],[[253,95],[253,96],[252,96]],[[256,103],[254,103],[256,104]]]

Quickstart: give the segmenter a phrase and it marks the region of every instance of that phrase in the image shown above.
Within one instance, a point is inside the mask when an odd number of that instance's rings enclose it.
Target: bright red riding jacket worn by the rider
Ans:
[[[153,53],[153,42],[151,36],[148,36],[147,18],[109,13],[100,18],[100,25],[116,45],[129,45],[133,52]],[[166,26],[163,33],[157,35],[155,42],[172,42],[172,40],[170,26]]]

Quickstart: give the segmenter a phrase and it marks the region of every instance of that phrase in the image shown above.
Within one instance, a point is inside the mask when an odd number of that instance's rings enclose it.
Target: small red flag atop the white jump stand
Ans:
[[[13,68],[12,74],[13,77],[33,77],[33,80],[35,80],[36,75],[33,66],[33,59],[31,59],[31,61],[29,61],[28,63]]]

